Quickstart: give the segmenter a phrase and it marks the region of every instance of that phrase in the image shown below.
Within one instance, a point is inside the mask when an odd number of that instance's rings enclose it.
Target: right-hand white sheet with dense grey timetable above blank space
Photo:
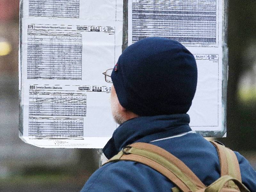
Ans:
[[[179,41],[198,68],[188,111],[195,131],[222,131],[222,1],[128,1],[128,44],[151,36]]]

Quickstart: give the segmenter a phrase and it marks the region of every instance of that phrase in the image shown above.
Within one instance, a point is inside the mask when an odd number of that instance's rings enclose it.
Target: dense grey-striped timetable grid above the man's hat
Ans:
[[[216,0],[132,0],[132,43],[150,36],[217,44]]]

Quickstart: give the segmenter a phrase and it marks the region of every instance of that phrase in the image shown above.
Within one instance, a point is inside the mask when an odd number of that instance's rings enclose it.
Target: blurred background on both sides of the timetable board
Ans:
[[[228,8],[227,138],[256,169],[256,3]],[[19,0],[0,0],[0,191],[79,191],[98,167],[96,149],[42,149],[18,137]],[[88,163],[90,162],[90,163]]]

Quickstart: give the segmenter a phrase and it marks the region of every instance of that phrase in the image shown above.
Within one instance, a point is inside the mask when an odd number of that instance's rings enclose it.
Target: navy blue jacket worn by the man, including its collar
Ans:
[[[208,186],[220,177],[217,150],[209,141],[197,133],[159,140],[191,131],[189,121],[187,114],[128,120],[116,129],[103,152],[111,158],[128,144],[151,143],[178,157]],[[242,155],[235,153],[244,185],[256,192],[256,172]],[[144,164],[119,161],[108,163],[94,172],[81,192],[167,192],[173,187],[165,176]]]

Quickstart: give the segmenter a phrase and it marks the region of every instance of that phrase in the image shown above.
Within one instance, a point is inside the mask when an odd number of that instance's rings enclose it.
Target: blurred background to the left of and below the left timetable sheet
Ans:
[[[0,0],[0,191],[78,192],[99,167],[98,150],[44,149],[19,139],[18,54],[19,0]]]

